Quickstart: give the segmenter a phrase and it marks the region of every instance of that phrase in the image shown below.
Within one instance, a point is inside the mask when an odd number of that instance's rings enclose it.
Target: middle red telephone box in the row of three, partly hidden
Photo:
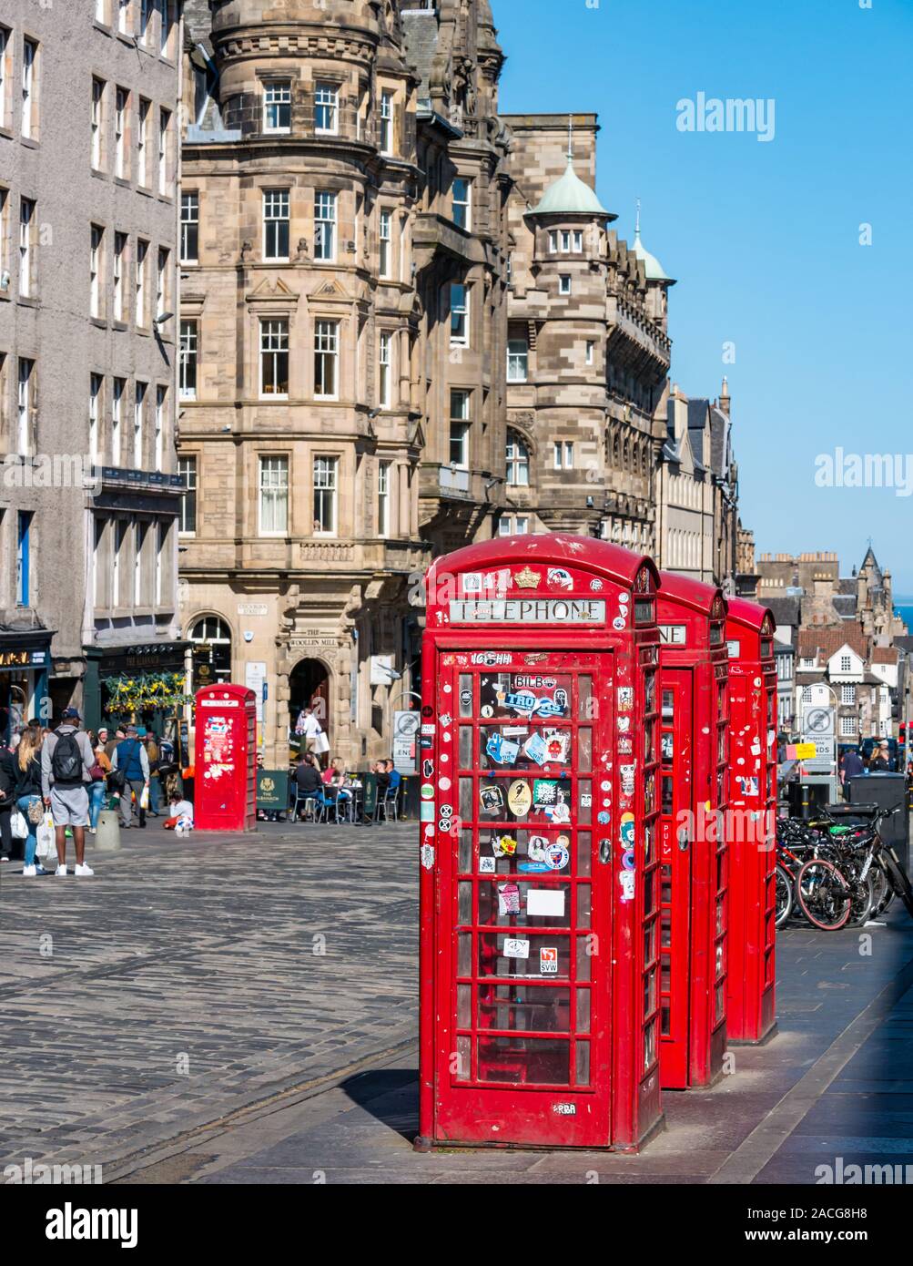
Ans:
[[[706,1086],[726,1047],[726,601],[660,573],[660,1074]]]

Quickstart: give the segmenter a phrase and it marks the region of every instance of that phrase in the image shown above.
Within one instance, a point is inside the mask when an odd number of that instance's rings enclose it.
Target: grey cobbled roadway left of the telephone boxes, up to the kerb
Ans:
[[[94,879],[0,870],[0,1169],[110,1161],[414,1037],[415,825],[123,839]]]

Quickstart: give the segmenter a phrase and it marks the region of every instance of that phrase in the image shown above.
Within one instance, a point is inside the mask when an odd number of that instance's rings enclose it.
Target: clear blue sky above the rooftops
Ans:
[[[759,552],[869,538],[913,595],[913,496],[816,486],[816,457],[910,454],[913,0],[492,0],[501,108],[594,110],[597,189],[678,285],[671,377],[730,380]],[[677,103],[774,99],[775,134],[683,133]],[[860,224],[871,246],[860,246]],[[722,346],[735,343],[735,363]]]

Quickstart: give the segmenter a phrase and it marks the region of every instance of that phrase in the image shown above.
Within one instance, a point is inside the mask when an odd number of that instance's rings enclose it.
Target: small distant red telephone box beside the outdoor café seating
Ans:
[[[257,819],[257,703],[247,686],[196,693],[193,825],[253,830]]]

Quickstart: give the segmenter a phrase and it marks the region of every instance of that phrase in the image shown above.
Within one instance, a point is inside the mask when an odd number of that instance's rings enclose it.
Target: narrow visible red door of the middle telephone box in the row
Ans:
[[[660,798],[660,1065],[687,1086],[690,1050],[693,674],[663,671]]]

